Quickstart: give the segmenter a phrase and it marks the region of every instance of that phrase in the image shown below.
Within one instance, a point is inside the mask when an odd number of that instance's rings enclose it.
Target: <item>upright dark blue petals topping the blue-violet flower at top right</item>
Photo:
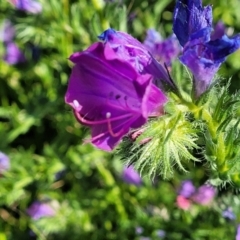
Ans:
[[[210,40],[212,28],[212,7],[202,7],[201,0],[177,0],[173,16],[173,32],[180,44],[184,45],[196,38],[201,31],[204,41]]]

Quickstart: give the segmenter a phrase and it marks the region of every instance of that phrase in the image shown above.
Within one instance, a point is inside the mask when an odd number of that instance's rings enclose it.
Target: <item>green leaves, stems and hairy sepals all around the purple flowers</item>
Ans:
[[[189,211],[177,207],[176,199],[183,179],[193,179],[199,186],[208,179],[206,172],[212,174],[210,168],[202,167],[205,161],[196,161],[203,155],[219,169],[225,165],[231,168],[221,183],[239,186],[239,166],[231,165],[238,163],[239,126],[237,120],[229,120],[230,115],[239,118],[237,94],[228,99],[226,92],[214,88],[208,99],[193,103],[191,78],[185,69],[177,70],[181,66],[174,66],[173,78],[184,89],[171,96],[174,102],[165,107],[164,117],[152,119],[136,141],[127,138],[122,143],[125,163],[135,164],[143,175],[152,170],[152,178],[143,177],[138,187],[123,181],[118,154],[83,143],[88,133],[64,103],[71,71],[67,58],[73,52],[87,48],[109,26],[129,30],[141,40],[150,27],[168,36],[174,1],[41,3],[43,12],[34,15],[1,1],[0,22],[5,18],[12,21],[16,27],[14,41],[27,61],[10,66],[0,60],[0,151],[9,156],[11,165],[0,176],[0,240],[140,240],[143,236],[157,240],[159,229],[170,240],[233,239],[240,208],[238,196],[231,190],[221,188],[212,205],[192,204]],[[237,4],[229,1],[226,8],[224,0],[214,3],[214,15],[239,31]],[[0,43],[1,57],[4,52],[5,46]],[[238,55],[232,56],[222,70],[233,75],[234,83],[240,77]],[[230,89],[235,92],[236,87],[231,85]],[[208,112],[199,107],[203,102],[217,123],[213,125],[217,133],[214,141],[209,141],[213,131],[212,125],[206,124]],[[218,102],[222,102],[220,106]],[[199,120],[200,116],[205,121]],[[146,138],[151,141],[143,144]],[[203,153],[199,145],[208,148]],[[221,165],[215,164],[216,159]],[[173,173],[171,180],[162,180]],[[213,181],[219,182],[223,174],[214,177]],[[32,219],[26,210],[34,201],[48,203],[56,215]],[[237,216],[235,221],[221,215],[228,206]],[[139,226],[143,228],[141,234],[135,231]]]

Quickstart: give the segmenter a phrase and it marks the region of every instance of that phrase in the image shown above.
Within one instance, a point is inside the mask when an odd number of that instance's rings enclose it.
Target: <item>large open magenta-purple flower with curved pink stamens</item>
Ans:
[[[167,101],[151,75],[139,74],[108,43],[94,43],[70,60],[75,66],[65,101],[78,121],[91,128],[91,142],[100,149],[112,150],[131,128],[159,115]]]

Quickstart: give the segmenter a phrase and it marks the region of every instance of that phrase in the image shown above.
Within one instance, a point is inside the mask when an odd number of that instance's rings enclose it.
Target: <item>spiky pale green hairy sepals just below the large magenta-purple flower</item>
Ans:
[[[187,172],[188,161],[199,161],[192,154],[198,148],[196,140],[196,129],[178,111],[149,121],[136,139],[125,139],[121,151],[129,153],[124,156],[126,163],[133,164],[142,175],[167,179],[173,176],[174,167]]]

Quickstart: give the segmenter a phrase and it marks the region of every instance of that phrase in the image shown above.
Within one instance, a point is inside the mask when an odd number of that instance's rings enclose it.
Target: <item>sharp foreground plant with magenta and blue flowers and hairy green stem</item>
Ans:
[[[70,56],[65,96],[91,128],[92,144],[110,151],[121,143],[125,163],[151,177],[171,177],[173,166],[187,171],[192,160],[208,169],[209,183],[238,187],[240,99],[216,74],[240,48],[240,35],[228,37],[222,23],[214,28],[212,7],[201,0],[178,0],[173,34],[164,41],[152,29],[144,44],[112,28],[98,38]],[[209,185],[185,185],[195,202],[215,195]]]

